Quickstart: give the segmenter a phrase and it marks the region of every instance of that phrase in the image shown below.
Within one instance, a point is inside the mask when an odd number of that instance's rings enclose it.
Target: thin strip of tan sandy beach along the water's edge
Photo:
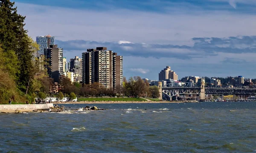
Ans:
[[[183,103],[183,102],[170,102],[170,101],[82,101],[82,102],[53,102],[53,104],[126,104],[126,103]]]

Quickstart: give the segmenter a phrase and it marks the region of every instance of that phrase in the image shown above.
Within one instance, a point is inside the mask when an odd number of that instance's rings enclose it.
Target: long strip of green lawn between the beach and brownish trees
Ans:
[[[146,101],[142,98],[79,98],[79,101]]]

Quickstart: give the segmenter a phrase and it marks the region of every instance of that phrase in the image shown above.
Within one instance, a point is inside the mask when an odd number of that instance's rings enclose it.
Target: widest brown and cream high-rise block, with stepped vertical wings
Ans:
[[[82,82],[99,82],[106,88],[121,89],[123,82],[123,59],[106,47],[87,49],[82,54]]]

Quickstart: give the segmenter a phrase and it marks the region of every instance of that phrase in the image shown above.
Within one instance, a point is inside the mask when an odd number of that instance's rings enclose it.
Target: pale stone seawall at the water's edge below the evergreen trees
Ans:
[[[20,104],[20,105],[0,105],[0,111],[8,110],[37,110],[37,111],[49,111],[53,107],[53,104]]]

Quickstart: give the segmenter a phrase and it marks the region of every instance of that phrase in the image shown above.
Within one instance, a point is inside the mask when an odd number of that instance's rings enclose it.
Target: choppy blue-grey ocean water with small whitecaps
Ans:
[[[256,152],[256,102],[95,106],[108,110],[0,113],[0,153]]]

